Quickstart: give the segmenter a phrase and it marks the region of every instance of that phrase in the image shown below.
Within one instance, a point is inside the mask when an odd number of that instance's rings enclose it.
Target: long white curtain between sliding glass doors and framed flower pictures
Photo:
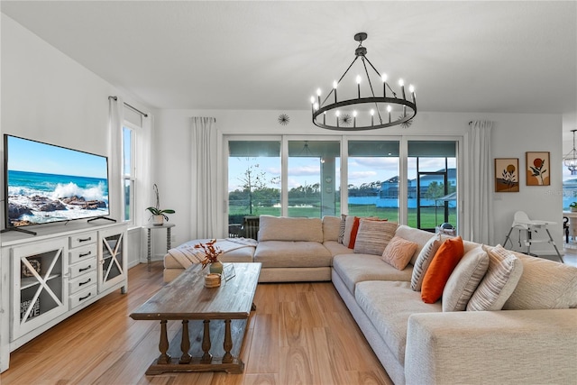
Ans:
[[[469,151],[469,198],[471,202],[471,241],[493,243],[493,162],[490,151],[492,122],[472,121]]]

